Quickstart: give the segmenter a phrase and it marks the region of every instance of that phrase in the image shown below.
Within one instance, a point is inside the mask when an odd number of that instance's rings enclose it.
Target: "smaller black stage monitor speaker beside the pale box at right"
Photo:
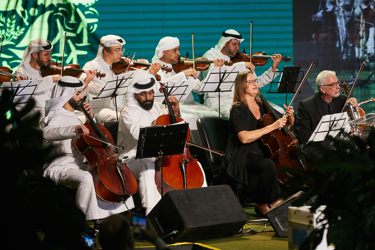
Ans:
[[[271,208],[266,213],[266,217],[271,224],[272,228],[275,230],[276,235],[280,238],[288,238],[288,228],[289,228],[289,213],[288,208],[291,207],[292,203],[301,197],[304,192],[300,191],[295,195],[290,196],[288,199],[285,199],[275,207]],[[311,202],[303,204],[304,206],[311,205]]]

